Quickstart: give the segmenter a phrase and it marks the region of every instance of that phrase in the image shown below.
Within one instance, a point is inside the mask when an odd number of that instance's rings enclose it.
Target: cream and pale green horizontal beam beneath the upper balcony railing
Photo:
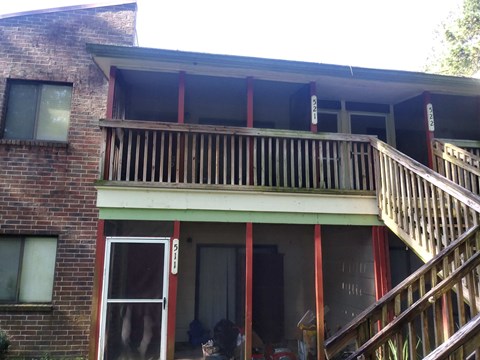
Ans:
[[[102,219],[380,225],[375,196],[97,186]]]

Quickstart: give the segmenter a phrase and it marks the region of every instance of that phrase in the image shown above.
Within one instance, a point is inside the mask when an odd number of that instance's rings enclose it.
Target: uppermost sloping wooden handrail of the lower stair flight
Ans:
[[[409,286],[414,285],[415,289],[419,287],[420,280],[425,278],[426,275],[432,272],[432,269],[442,265],[444,258],[452,256],[455,251],[465,243],[473,239],[479,230],[479,226],[475,226],[465,232],[457,241],[451,243],[448,247],[443,249],[438,256],[421,266],[417,271],[404,279],[400,284],[390,290],[385,296],[380,298],[377,302],[369,306],[355,317],[349,324],[345,325],[338,333],[331,336],[325,341],[325,353],[328,358],[331,358],[338,354],[343,348],[345,348],[352,340],[355,340],[358,328],[362,324],[373,324],[375,321],[381,318],[382,313],[385,313],[385,309],[395,302],[395,299],[405,293]],[[414,290],[412,287],[411,290]]]

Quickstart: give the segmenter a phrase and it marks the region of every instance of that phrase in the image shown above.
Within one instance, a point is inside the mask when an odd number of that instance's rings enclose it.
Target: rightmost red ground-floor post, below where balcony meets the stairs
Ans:
[[[385,295],[392,287],[390,277],[390,255],[386,231],[386,228],[383,226],[372,227],[376,300]]]

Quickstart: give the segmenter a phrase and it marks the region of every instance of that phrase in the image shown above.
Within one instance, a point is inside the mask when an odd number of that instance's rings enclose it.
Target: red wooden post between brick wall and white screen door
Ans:
[[[98,220],[95,246],[95,275],[93,279],[92,317],[90,324],[89,358],[98,356],[100,338],[100,312],[102,308],[103,268],[105,264],[105,220]]]

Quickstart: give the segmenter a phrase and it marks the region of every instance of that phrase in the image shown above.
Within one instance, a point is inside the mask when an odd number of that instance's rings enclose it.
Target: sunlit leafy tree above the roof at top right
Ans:
[[[443,24],[440,48],[427,71],[472,76],[480,70],[480,0],[464,0],[462,13]]]

